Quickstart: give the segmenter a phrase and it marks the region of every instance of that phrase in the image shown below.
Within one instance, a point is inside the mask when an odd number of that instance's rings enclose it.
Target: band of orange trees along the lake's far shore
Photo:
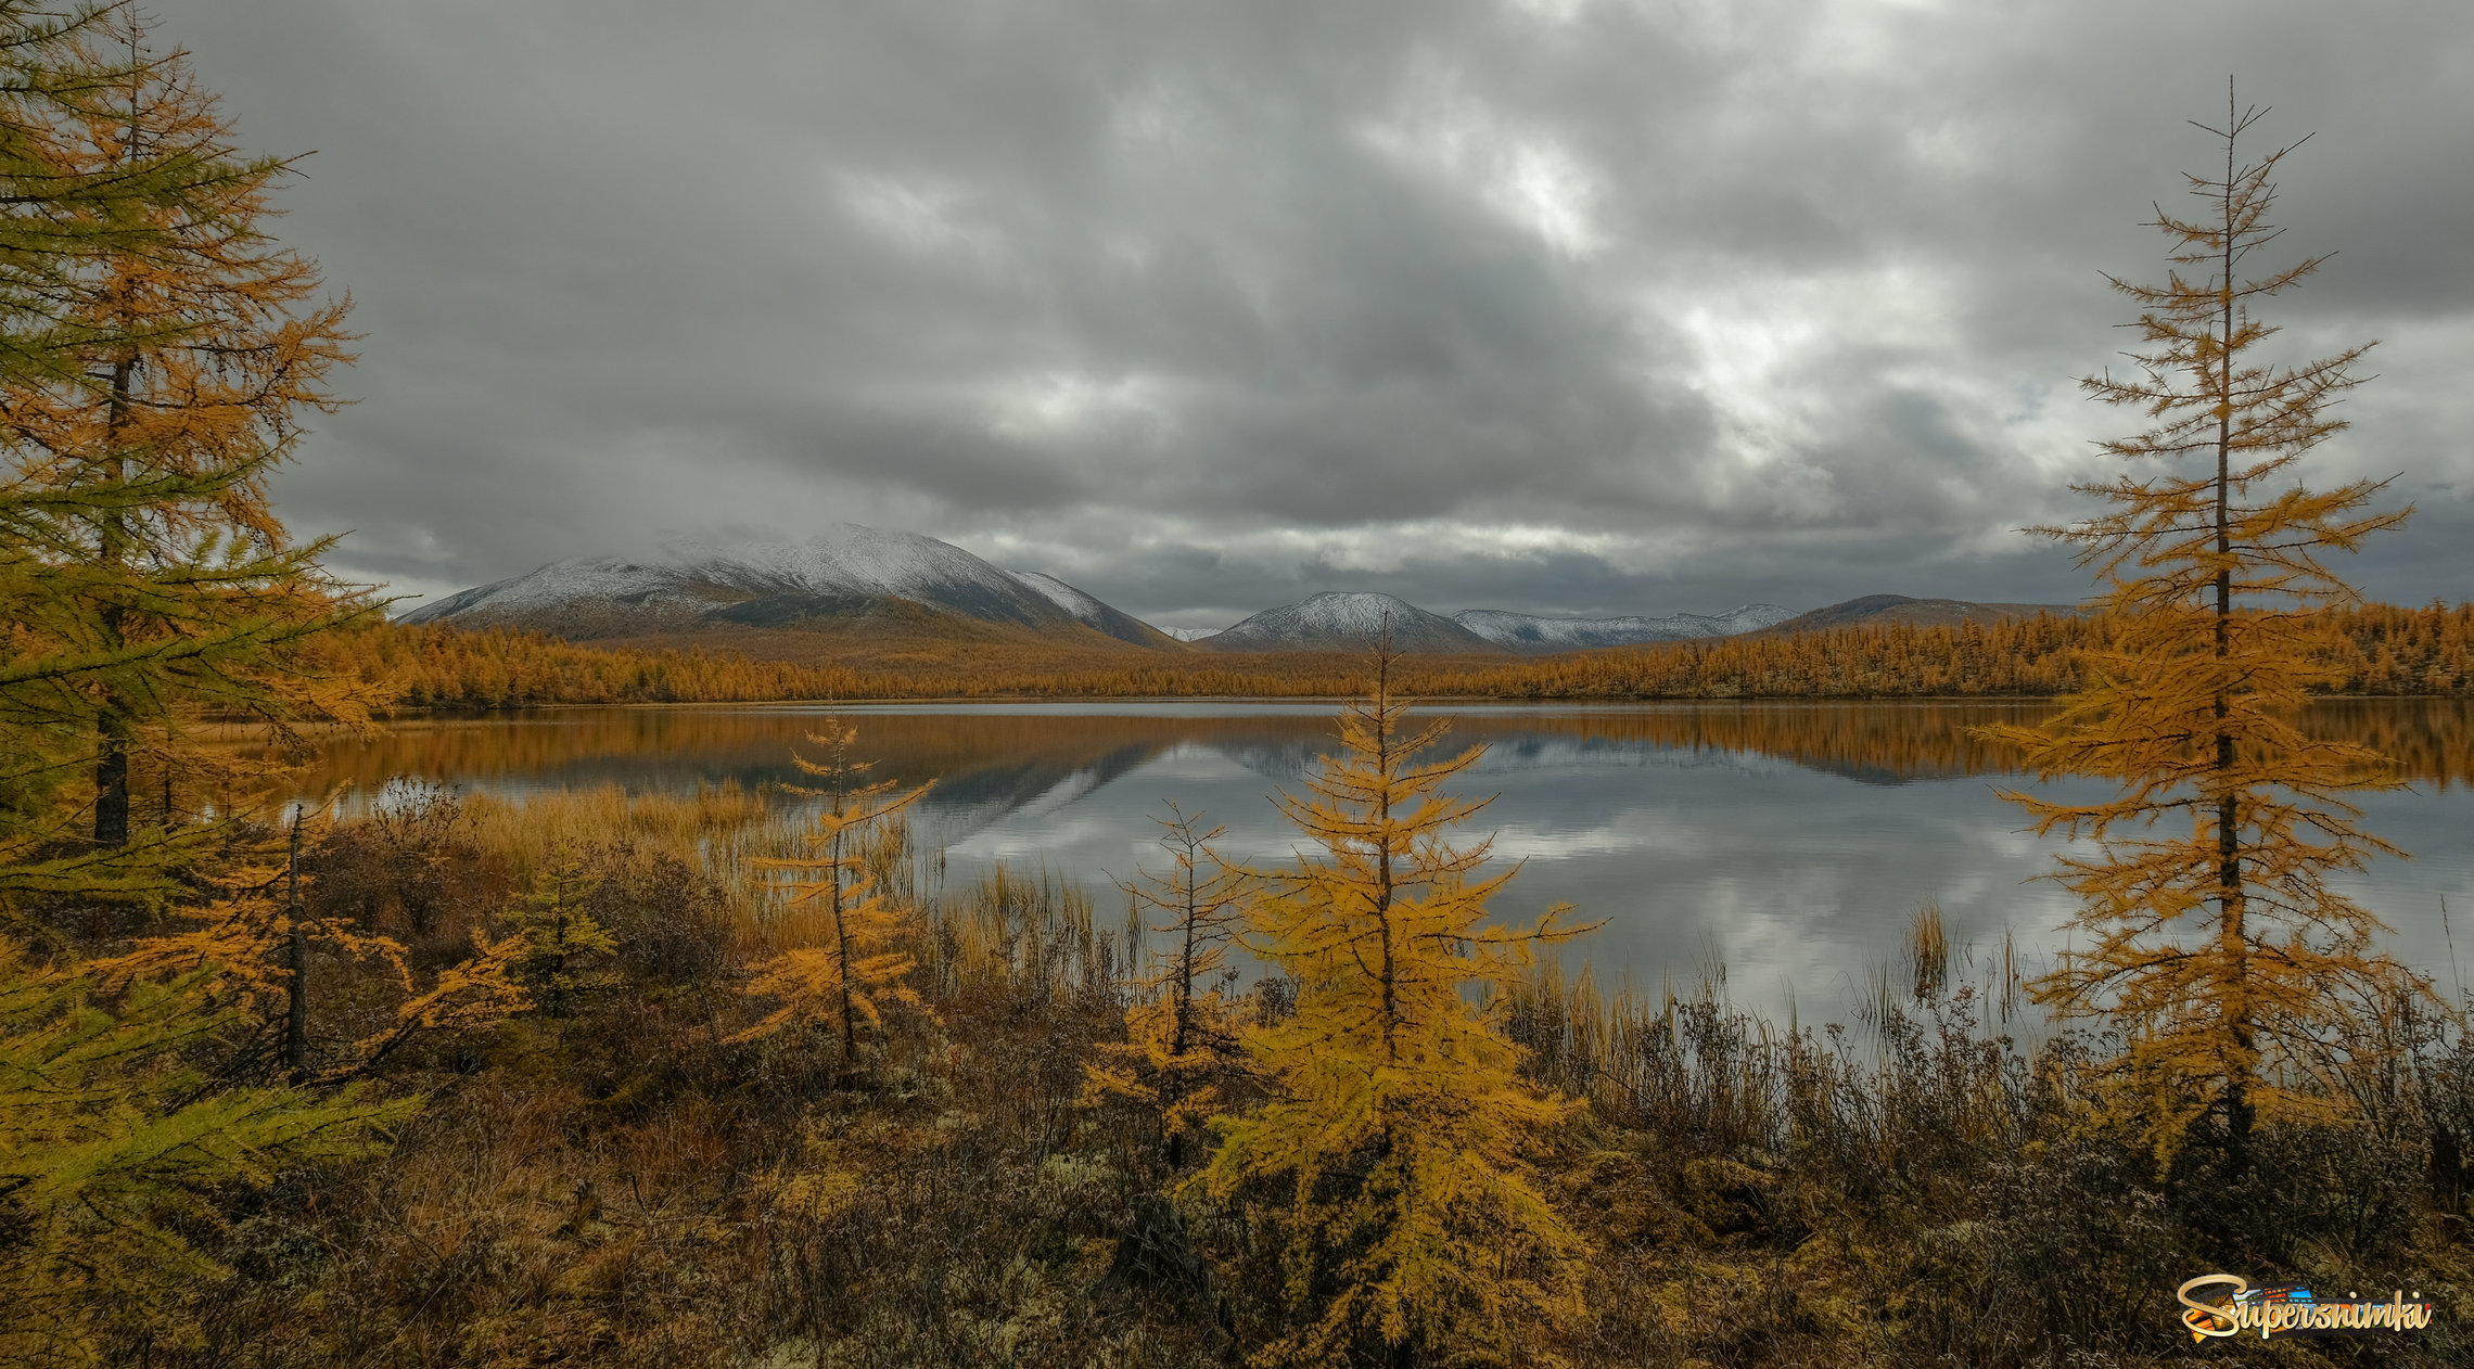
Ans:
[[[1452,699],[1930,699],[2058,697],[2081,687],[2100,618],[1759,633],[1554,657],[1403,657],[1403,689]],[[747,704],[787,699],[1348,697],[1346,652],[1032,652],[943,645],[868,665],[564,642],[539,633],[393,623],[319,645],[383,707]],[[2474,605],[2363,605],[2326,620],[2326,694],[2467,697]]]

